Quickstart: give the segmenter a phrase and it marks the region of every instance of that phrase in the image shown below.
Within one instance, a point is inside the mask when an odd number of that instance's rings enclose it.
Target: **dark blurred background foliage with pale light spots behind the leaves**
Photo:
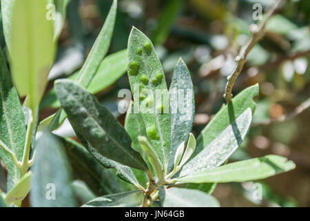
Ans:
[[[68,77],[81,68],[111,3],[110,0],[70,1],[47,95],[41,104],[41,119],[55,112],[48,105],[53,79]],[[256,3],[265,10],[273,1],[119,0],[110,54],[127,47],[130,30],[136,26],[154,42],[168,84],[176,61],[182,57],[195,87],[194,133],[197,135],[224,103],[226,77],[234,68],[234,57],[240,46],[250,35],[249,25],[256,23],[252,17]],[[269,123],[269,119],[285,116],[309,99],[309,21],[309,0],[285,0],[267,23],[265,38],[250,52],[233,90],[236,95],[247,86],[260,84],[254,124],[231,161],[272,153],[293,160],[296,169],[259,182],[262,200],[253,199],[258,182],[219,184],[214,195],[221,206],[310,206],[310,109],[283,122]],[[0,44],[2,48],[5,46],[3,35]],[[120,122],[125,117],[117,111],[121,100],[118,91],[122,88],[129,88],[127,75],[96,91],[99,101]],[[68,124],[59,130],[62,135],[72,133]],[[2,173],[0,170],[0,177]]]

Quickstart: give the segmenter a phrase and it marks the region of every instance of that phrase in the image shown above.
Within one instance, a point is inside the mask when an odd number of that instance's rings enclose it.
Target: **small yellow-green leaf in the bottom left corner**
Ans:
[[[8,204],[18,204],[28,195],[30,191],[30,178],[31,171],[23,175],[19,182],[8,192],[5,198]]]

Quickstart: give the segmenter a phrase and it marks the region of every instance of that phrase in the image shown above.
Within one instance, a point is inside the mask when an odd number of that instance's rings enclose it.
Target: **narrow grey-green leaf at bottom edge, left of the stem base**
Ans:
[[[141,191],[130,191],[125,193],[116,193],[112,195],[104,195],[87,202],[83,207],[132,207],[141,204],[143,193]]]

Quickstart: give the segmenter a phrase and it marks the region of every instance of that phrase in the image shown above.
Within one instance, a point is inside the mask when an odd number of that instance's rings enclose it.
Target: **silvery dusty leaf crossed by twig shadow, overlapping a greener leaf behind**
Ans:
[[[236,119],[236,122],[225,128],[203,151],[187,162],[183,166],[180,176],[214,169],[223,164],[242,143],[251,125],[251,119],[251,109],[248,108]]]

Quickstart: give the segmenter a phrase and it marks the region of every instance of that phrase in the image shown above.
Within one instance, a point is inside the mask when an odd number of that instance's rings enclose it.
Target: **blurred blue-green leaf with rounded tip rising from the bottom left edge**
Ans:
[[[76,206],[71,169],[61,143],[54,135],[43,132],[36,146],[30,204],[34,207]]]

